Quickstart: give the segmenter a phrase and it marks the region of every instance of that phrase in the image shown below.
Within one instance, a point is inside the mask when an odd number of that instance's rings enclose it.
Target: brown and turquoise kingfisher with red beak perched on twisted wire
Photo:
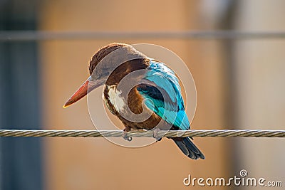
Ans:
[[[119,89],[120,82],[131,73],[136,74],[128,79],[129,83],[137,83],[130,90]],[[64,108],[103,85],[103,101],[108,110],[123,122],[124,132],[154,130],[157,126],[160,126],[158,131],[165,130],[166,126],[168,130],[190,129],[179,80],[165,63],[148,58],[126,43],[110,43],[96,51],[90,59],[89,74],[83,85],[63,105]],[[123,93],[127,93],[127,98]],[[142,112],[147,113],[146,120],[127,118]],[[155,138],[157,141],[161,139],[158,136]],[[190,159],[204,159],[202,152],[192,142],[192,137],[170,139]]]

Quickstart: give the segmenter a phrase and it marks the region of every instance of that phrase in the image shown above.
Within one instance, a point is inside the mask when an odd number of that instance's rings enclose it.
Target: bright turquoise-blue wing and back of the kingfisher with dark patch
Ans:
[[[175,73],[163,63],[150,60],[144,79],[150,84],[139,85],[137,90],[145,98],[145,105],[180,130],[188,130],[190,122]]]

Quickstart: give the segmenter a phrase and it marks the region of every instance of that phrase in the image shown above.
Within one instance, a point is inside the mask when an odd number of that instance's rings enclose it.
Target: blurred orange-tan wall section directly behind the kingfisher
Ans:
[[[41,29],[48,31],[184,31],[204,27],[199,22],[197,1],[46,1],[41,9]],[[88,77],[93,53],[113,41],[154,43],[175,51],[187,63],[197,85],[192,128],[222,129],[224,74],[219,43],[147,38],[42,42],[46,129],[93,129],[86,99],[65,110],[62,105]],[[196,138],[195,144],[206,159],[193,161],[168,139],[128,149],[103,138],[48,138],[46,189],[185,189],[182,179],[188,174],[216,177],[229,173],[226,143],[222,138]]]

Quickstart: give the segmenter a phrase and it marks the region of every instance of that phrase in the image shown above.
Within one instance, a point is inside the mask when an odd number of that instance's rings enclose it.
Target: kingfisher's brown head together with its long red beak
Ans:
[[[63,107],[68,107],[81,100],[90,91],[106,83],[108,78],[108,81],[118,80],[118,74],[122,73],[122,70],[128,70],[124,65],[125,63],[144,58],[146,58],[145,55],[125,43],[110,43],[100,48],[90,59],[90,77],[76,90],[76,93],[68,99]]]

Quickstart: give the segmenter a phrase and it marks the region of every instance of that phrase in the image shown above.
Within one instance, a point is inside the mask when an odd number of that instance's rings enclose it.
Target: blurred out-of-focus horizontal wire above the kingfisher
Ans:
[[[0,31],[0,41],[90,40],[110,38],[280,39],[285,38],[285,31]]]

